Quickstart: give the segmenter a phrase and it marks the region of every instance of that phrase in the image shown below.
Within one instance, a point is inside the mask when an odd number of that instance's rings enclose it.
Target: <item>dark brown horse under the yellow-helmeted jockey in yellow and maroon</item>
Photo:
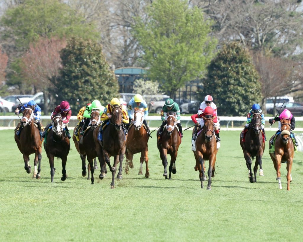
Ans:
[[[112,108],[112,117],[109,119],[109,124],[103,130],[102,152],[100,151],[100,148],[96,148],[101,166],[101,174],[99,175],[99,178],[103,179],[105,176],[104,167],[106,162],[109,167],[109,170],[112,172],[111,188],[115,188],[115,174],[119,162],[120,165],[117,178],[122,179],[122,162],[124,159],[125,143],[127,137],[125,136],[124,130],[122,128],[122,116],[122,105],[114,106]],[[111,166],[110,164],[109,158],[111,156],[114,156],[113,166]]]

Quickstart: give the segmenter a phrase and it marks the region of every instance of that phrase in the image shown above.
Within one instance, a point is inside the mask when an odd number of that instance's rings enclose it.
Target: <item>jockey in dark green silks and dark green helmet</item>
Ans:
[[[159,129],[159,135],[162,134],[163,132],[163,128],[166,124],[166,119],[167,119],[167,112],[174,112],[176,113],[177,115],[177,126],[179,128],[179,131],[181,133],[181,137],[183,137],[183,132],[182,132],[182,126],[181,126],[181,122],[180,122],[180,119],[181,119],[181,115],[180,115],[180,108],[179,108],[179,105],[178,103],[174,102],[174,100],[172,100],[171,98],[168,98],[166,101],[165,101],[165,104],[161,110],[161,120],[162,120],[162,124],[161,124],[161,127]]]

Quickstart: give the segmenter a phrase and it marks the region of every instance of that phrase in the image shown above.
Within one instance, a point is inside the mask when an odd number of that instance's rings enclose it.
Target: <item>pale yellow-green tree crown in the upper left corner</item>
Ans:
[[[39,37],[52,36],[89,39],[97,38],[95,26],[76,15],[67,4],[58,0],[27,0],[8,8],[0,24],[4,28],[3,38],[15,40],[18,49],[23,50]]]

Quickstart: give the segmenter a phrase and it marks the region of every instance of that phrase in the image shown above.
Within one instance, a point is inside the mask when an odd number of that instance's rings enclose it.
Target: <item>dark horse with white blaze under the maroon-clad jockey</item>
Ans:
[[[54,182],[54,175],[56,168],[54,167],[54,158],[58,157],[62,160],[62,177],[61,181],[67,178],[65,165],[67,155],[71,145],[66,131],[63,129],[61,114],[57,114],[52,121],[52,131],[47,133],[44,139],[44,149],[49,160],[51,168],[51,178]]]

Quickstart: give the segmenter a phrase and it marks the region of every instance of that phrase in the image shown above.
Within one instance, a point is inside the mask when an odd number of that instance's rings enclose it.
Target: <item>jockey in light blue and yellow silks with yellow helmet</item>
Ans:
[[[147,131],[147,136],[150,136],[150,130],[149,130],[149,127],[147,126],[147,123],[146,123],[146,118],[148,116],[148,107],[147,107],[147,104],[145,102],[145,100],[142,98],[142,96],[140,94],[137,94],[135,95],[128,103],[128,109],[127,109],[127,114],[128,114],[128,117],[129,117],[129,123],[128,123],[128,126],[130,124],[130,122],[134,122],[134,110],[135,108],[137,109],[140,109],[144,112],[144,120],[143,120],[143,123],[146,127],[146,131]],[[127,128],[128,128],[127,126]]]

